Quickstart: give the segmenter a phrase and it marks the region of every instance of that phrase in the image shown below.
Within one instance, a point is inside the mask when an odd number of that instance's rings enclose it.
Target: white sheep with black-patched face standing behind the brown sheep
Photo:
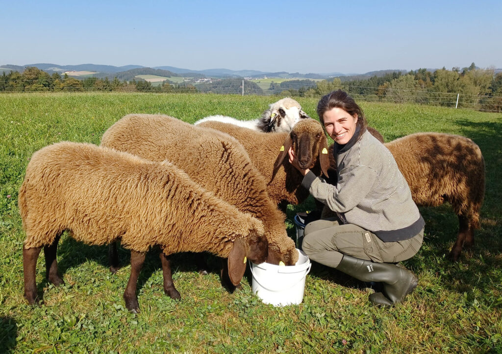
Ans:
[[[229,123],[243,128],[253,129],[259,132],[286,132],[289,133],[293,126],[301,119],[310,118],[302,107],[295,100],[286,97],[273,104],[269,105],[269,109],[263,112],[261,118],[252,121],[241,121],[232,117],[226,116],[210,116],[205,117],[194,125],[198,125],[207,121],[217,121]]]

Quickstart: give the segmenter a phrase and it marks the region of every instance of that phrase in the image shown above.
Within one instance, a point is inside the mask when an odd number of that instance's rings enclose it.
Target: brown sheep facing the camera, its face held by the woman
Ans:
[[[303,175],[289,163],[290,146],[293,146],[300,166],[312,169],[317,175],[321,170],[328,174],[326,136],[321,124],[313,119],[301,120],[291,133],[250,132],[214,121],[201,123],[200,126],[225,132],[242,143],[253,164],[269,181],[269,196],[276,204],[283,201],[299,204],[309,196],[309,192],[301,186]]]

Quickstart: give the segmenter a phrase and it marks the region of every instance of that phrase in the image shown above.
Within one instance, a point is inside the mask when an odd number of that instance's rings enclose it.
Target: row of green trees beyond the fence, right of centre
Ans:
[[[463,108],[502,111],[502,72],[495,74],[493,69],[479,69],[474,63],[462,69],[454,67],[447,70],[443,67],[434,72],[418,69],[408,73],[396,71],[367,79],[342,79],[335,77],[319,81],[315,87],[312,87],[311,82],[308,85],[299,83],[296,88],[280,90],[280,94],[319,97],[341,89],[357,100],[415,102],[447,107],[458,105]],[[277,84],[271,84],[271,90],[277,93]]]

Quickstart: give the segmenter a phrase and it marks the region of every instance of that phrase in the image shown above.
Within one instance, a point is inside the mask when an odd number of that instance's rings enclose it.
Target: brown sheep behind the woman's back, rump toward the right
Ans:
[[[479,211],[484,199],[484,159],[470,139],[444,133],[416,133],[385,144],[420,206],[449,202],[458,216],[459,231],[450,257],[457,260],[462,246],[474,244],[480,227]],[[330,156],[333,145],[329,147]],[[336,163],[331,162],[331,169]],[[323,213],[323,217],[328,214]]]

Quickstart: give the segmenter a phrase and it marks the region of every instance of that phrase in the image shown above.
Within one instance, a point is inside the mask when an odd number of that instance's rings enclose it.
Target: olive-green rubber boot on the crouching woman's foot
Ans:
[[[411,293],[418,278],[392,263],[375,263],[344,254],[337,270],[363,282],[382,282],[383,292],[369,295],[375,305],[392,306]]]

